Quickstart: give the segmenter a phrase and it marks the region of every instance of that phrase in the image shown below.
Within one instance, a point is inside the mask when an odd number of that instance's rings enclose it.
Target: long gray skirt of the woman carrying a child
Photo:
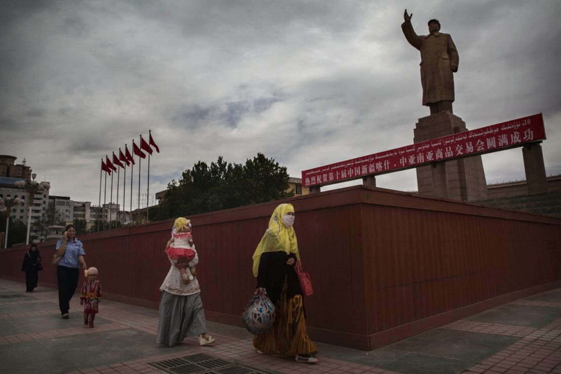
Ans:
[[[162,291],[156,343],[173,347],[189,336],[206,332],[205,310],[199,293],[180,296]]]

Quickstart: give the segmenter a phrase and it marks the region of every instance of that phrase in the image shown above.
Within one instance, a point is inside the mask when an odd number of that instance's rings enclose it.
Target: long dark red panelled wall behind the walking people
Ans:
[[[561,286],[561,220],[354,186],[290,198],[312,339],[374,349]],[[279,202],[190,216],[209,320],[241,325],[251,255]],[[173,220],[81,237],[111,299],[158,307]],[[40,243],[40,285],[56,284],[55,242]],[[24,280],[26,248],[0,251],[0,276]]]

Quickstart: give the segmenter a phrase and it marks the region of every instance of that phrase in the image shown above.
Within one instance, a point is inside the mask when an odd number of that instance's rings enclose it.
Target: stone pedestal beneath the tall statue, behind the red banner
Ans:
[[[413,142],[467,131],[466,123],[446,111],[419,118]],[[472,156],[417,168],[417,187],[422,195],[449,197],[456,200],[482,200],[487,197],[487,183],[481,156]],[[433,170],[434,169],[434,170]],[[441,182],[437,183],[440,179]],[[443,180],[448,182],[448,193]],[[448,195],[448,196],[446,196]]]

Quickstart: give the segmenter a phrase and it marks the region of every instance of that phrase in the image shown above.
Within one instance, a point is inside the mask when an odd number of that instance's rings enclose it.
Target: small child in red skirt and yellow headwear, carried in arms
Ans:
[[[191,220],[180,217],[173,223],[172,238],[165,246],[165,253],[169,260],[177,262],[190,262],[195,258],[195,244],[191,235]],[[180,270],[181,279],[184,284],[189,284],[191,279],[197,276],[194,266],[182,267]]]

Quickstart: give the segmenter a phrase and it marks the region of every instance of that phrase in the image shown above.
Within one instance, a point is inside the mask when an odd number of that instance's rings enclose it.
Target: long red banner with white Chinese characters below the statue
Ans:
[[[348,181],[435,161],[491,153],[545,139],[540,114],[423,141],[368,156],[304,170],[302,187]]]

